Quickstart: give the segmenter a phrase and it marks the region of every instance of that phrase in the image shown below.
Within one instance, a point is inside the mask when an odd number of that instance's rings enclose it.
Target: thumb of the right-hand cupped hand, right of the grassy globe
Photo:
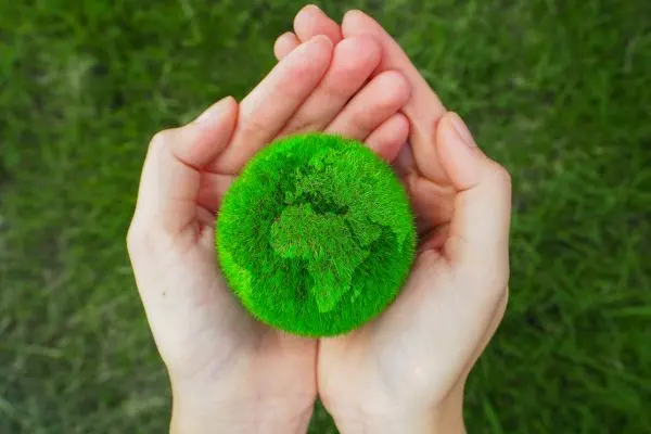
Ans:
[[[488,283],[497,279],[505,288],[511,216],[509,173],[480,150],[456,113],[441,119],[436,149],[456,190],[444,254],[473,281]]]

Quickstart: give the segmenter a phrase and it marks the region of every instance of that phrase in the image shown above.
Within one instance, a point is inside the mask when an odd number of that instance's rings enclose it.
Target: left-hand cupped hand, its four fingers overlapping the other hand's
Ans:
[[[311,38],[239,105],[226,98],[152,139],[127,244],[170,378],[173,432],[305,431],[317,342],[244,311],[217,268],[215,215],[246,161],[279,136],[339,132],[393,158],[409,132],[397,112],[410,88],[396,72],[369,80],[380,62],[372,38],[334,48]]]

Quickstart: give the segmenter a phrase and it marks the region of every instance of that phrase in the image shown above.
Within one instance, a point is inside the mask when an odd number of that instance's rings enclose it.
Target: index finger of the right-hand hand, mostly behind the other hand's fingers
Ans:
[[[430,180],[448,183],[445,170],[438,161],[433,145],[436,125],[446,113],[443,103],[410,62],[400,46],[388,35],[378,22],[361,11],[349,11],[344,15],[342,34],[345,38],[372,35],[382,46],[382,62],[378,74],[384,71],[399,71],[409,81],[412,92],[405,104],[403,113],[411,123],[409,141],[412,145],[414,162],[419,170]]]

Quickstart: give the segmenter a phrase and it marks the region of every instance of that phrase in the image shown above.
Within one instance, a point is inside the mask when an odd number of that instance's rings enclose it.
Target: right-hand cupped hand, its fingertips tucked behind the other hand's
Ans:
[[[318,392],[342,432],[464,432],[467,376],[495,333],[508,299],[511,183],[446,111],[396,41],[350,11],[340,27],[304,8],[275,44],[283,59],[303,41],[361,35],[381,44],[374,74],[401,72],[412,93],[401,112],[409,142],[393,161],[417,215],[419,253],[401,294],[378,319],[323,339]]]

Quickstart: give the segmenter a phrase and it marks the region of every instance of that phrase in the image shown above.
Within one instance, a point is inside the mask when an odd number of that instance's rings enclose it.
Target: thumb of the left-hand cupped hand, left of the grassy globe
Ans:
[[[226,148],[238,103],[227,97],[196,120],[154,136],[142,169],[135,220],[178,234],[195,218],[200,168]]]

